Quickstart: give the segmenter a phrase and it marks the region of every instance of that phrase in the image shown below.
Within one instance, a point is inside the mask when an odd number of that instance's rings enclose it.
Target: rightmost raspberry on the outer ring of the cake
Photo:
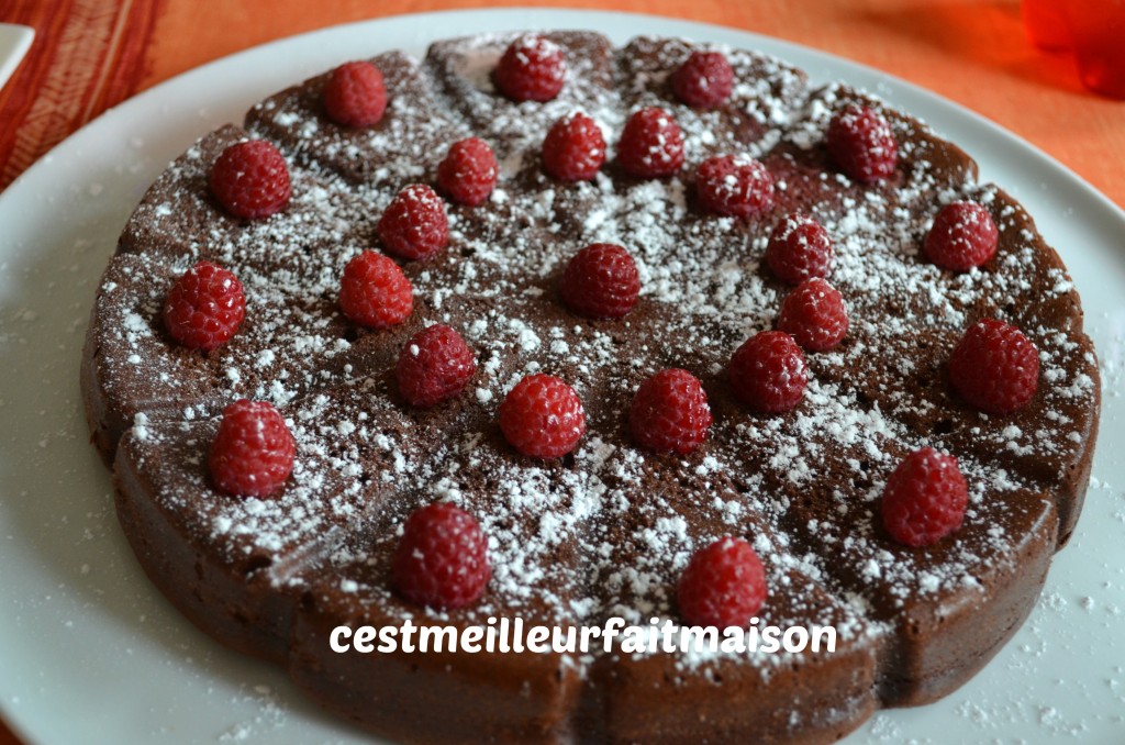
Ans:
[[[1040,352],[1019,329],[978,321],[950,357],[950,383],[970,404],[989,414],[1010,414],[1035,395]]]

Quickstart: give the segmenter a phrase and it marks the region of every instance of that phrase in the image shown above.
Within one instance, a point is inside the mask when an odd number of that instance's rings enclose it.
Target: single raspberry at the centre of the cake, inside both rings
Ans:
[[[639,293],[637,264],[612,243],[593,243],[574,254],[559,282],[567,307],[591,318],[620,318],[637,305]]]

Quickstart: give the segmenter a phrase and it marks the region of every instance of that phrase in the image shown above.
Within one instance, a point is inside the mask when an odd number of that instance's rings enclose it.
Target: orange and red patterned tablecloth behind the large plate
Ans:
[[[484,6],[624,10],[765,34],[885,70],[992,119],[1125,207],[1125,101],[1036,50],[1018,0],[8,0],[36,39],[0,91],[0,190],[107,108],[180,72],[335,24]],[[533,21],[529,21],[533,26]],[[0,722],[0,745],[16,738]]]

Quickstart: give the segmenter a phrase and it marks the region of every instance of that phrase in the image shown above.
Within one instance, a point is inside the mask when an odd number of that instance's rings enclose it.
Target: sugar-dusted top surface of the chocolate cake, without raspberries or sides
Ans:
[[[849,182],[825,162],[822,136],[830,111],[856,93],[808,90],[794,69],[735,50],[724,51],[739,82],[722,110],[667,99],[666,74],[685,43],[640,39],[613,55],[587,35],[557,38],[583,52],[569,55],[559,98],[497,100],[487,71],[507,41],[446,43],[424,63],[384,59],[389,114],[372,132],[331,128],[299,91],[255,108],[251,134],[279,141],[294,179],[291,205],[273,218],[235,223],[207,196],[205,152],[244,136],[237,131],[192,149],[138,208],[98,323],[104,386],[146,392],[127,402],[136,411],[125,447],[162,509],[279,592],[342,591],[341,602],[392,619],[466,623],[514,611],[564,623],[675,620],[675,578],[692,553],[742,535],[767,567],[765,619],[835,625],[860,652],[891,638],[911,608],[952,616],[979,603],[1022,551],[1047,539],[1054,512],[1042,493],[1087,447],[1074,423],[1089,422],[1096,362],[1076,330],[1038,320],[1037,308],[1074,302],[1073,289],[994,187],[956,158],[937,162],[927,132],[901,117],[892,127],[902,173],[871,189]],[[674,111],[684,131],[680,176],[637,181],[608,167],[572,185],[541,172],[539,146],[561,116],[580,107],[612,144],[626,116],[647,105]],[[335,307],[339,273],[378,248],[372,225],[397,189],[428,180],[468,133],[494,145],[503,197],[450,207],[447,252],[405,271],[412,327],[454,325],[479,369],[459,401],[417,412],[388,372],[410,330],[357,333]],[[730,152],[771,169],[775,215],[740,222],[694,208],[694,167]],[[958,198],[998,213],[1005,237],[992,269],[952,275],[919,257],[928,221]],[[742,340],[773,325],[788,288],[763,251],[773,224],[798,207],[832,236],[829,279],[850,331],[836,350],[809,356],[812,380],[795,412],[750,415],[731,403],[723,370]],[[198,215],[206,219],[191,222]],[[637,261],[642,299],[620,322],[576,318],[558,303],[561,267],[592,242],[620,243]],[[200,258],[234,270],[248,299],[244,329],[209,358],[170,347],[160,325],[164,288]],[[984,312],[1020,324],[1038,345],[1042,418],[965,414],[947,392],[944,359]],[[640,450],[622,424],[637,385],[672,366],[703,379],[719,414],[708,445],[685,458]],[[515,456],[495,425],[501,397],[537,371],[567,379],[588,413],[587,436],[560,461]],[[297,466],[276,500],[230,499],[208,485],[214,415],[240,396],[272,401],[291,419]],[[954,452],[971,485],[965,527],[940,551],[894,546],[878,521],[888,474],[922,445]],[[386,586],[402,521],[435,499],[478,515],[494,567],[485,599],[450,614],[406,605]],[[568,664],[585,671],[590,661]],[[684,674],[722,664],[768,676],[788,661],[677,657]]]

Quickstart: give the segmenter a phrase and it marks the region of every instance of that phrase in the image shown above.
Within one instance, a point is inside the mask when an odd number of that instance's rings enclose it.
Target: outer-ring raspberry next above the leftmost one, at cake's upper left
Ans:
[[[228,213],[245,219],[281,212],[292,195],[285,158],[264,140],[248,140],[224,150],[212,165],[208,183]]]

